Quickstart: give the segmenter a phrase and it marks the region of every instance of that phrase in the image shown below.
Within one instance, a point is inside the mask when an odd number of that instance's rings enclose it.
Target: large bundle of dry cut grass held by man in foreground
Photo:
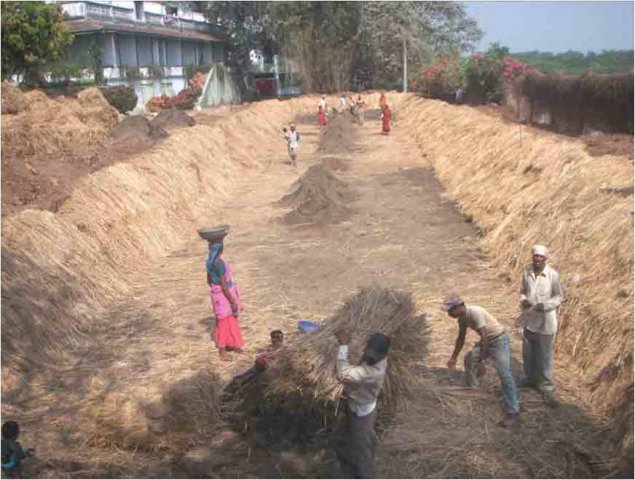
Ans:
[[[303,334],[274,360],[271,381],[265,391],[272,403],[300,398],[305,405],[319,408],[336,401],[343,392],[337,379],[338,343],[335,332],[346,328],[353,336],[350,361],[358,363],[368,338],[381,332],[391,339],[388,373],[382,405],[399,407],[411,393],[409,365],[425,356],[427,329],[425,316],[415,315],[410,294],[370,286],[349,297],[333,316],[315,332]]]

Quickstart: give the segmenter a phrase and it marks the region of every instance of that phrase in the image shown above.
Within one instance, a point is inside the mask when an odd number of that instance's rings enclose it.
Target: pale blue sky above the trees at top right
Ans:
[[[478,50],[512,53],[633,49],[633,2],[466,2],[484,32]]]

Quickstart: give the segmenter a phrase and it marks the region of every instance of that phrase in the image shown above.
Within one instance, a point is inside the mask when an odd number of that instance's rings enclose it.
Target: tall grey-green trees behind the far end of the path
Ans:
[[[305,91],[401,84],[403,41],[411,71],[442,52],[470,49],[481,37],[458,2],[201,2],[224,26],[232,61],[246,69],[249,50],[289,58]]]

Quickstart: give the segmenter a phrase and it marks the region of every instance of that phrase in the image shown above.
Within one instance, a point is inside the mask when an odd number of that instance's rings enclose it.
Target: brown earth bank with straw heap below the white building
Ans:
[[[77,98],[49,99],[2,85],[2,214],[25,208],[56,211],[86,175],[141,153],[167,136],[165,129],[190,126],[185,112],[166,111],[152,122],[122,123],[98,89]]]

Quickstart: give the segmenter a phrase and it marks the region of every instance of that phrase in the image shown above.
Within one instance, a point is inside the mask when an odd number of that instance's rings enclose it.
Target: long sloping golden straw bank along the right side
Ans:
[[[611,193],[632,188],[632,162],[437,101],[412,100],[402,118],[501,271],[519,279],[532,244],[550,248],[566,289],[557,349],[584,369],[632,460],[633,198]]]

